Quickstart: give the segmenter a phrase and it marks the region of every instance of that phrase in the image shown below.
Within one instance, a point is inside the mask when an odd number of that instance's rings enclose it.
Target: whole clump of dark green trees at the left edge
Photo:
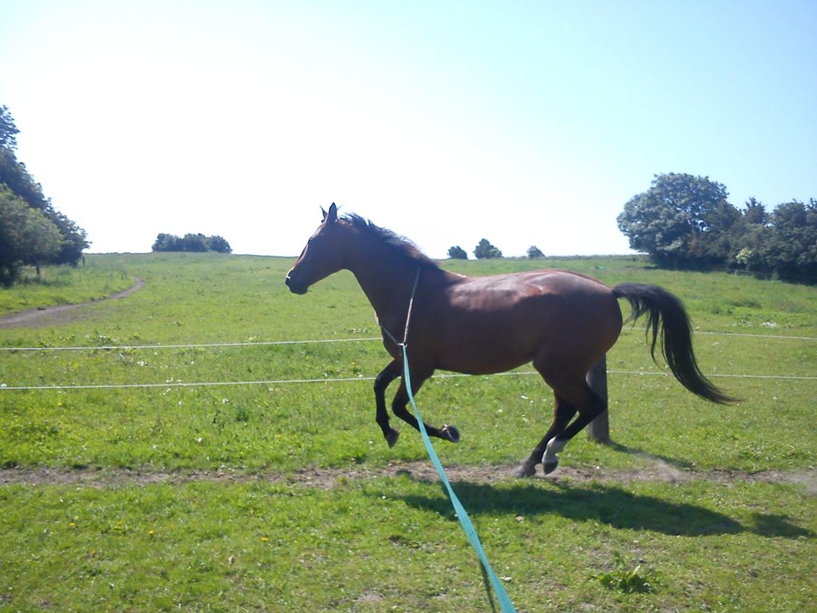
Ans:
[[[85,230],[60,213],[16,156],[17,129],[0,106],[0,284],[20,277],[23,266],[76,265],[89,246]]]

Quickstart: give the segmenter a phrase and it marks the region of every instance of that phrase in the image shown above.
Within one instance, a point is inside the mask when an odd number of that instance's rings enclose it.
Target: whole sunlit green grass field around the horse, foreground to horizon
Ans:
[[[0,351],[0,611],[491,610],[440,485],[406,469],[426,457],[419,436],[398,426],[390,450],[374,423],[387,357],[365,340],[378,331],[363,293],[340,273],[294,296],[291,264],[90,256],[0,292],[4,313],[145,280],[0,329],[18,348]],[[743,399],[696,399],[628,329],[608,356],[614,445],[578,436],[561,466],[585,477],[516,481],[549,424],[541,380],[526,367],[427,383],[424,418],[463,435],[436,445],[443,463],[495,469],[454,488],[518,611],[817,611],[817,289],[631,257],[445,266],[662,285],[693,317],[704,372]],[[324,340],[342,342],[264,344]],[[211,343],[250,344],[191,347]],[[70,388],[100,384],[156,387]],[[40,386],[65,388],[12,389]],[[310,484],[314,469],[338,477]],[[632,477],[656,471],[685,477]]]

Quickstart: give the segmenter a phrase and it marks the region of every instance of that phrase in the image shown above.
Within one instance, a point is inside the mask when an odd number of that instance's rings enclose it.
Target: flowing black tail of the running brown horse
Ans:
[[[623,283],[613,288],[616,298],[626,298],[632,307],[630,320],[647,315],[647,334],[652,331],[650,354],[655,360],[659,339],[664,360],[675,378],[693,394],[725,405],[734,402],[706,378],[692,351],[692,329],[681,300],[656,285]]]

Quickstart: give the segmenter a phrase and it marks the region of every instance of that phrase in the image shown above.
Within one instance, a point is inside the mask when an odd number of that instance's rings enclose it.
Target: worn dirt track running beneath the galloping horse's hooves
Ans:
[[[509,481],[515,466],[481,465],[475,467],[446,468],[452,482],[468,481],[477,483],[498,483]],[[541,468],[540,468],[541,470]],[[224,483],[246,483],[267,481],[288,483],[302,487],[330,490],[341,481],[396,477],[407,475],[418,481],[438,481],[439,477],[431,463],[391,462],[384,467],[358,468],[309,468],[297,472],[250,473],[224,469],[220,471],[174,471],[163,472],[150,469],[127,470],[121,468],[3,468],[0,469],[0,485],[79,485],[107,488],[127,485],[149,485],[168,483],[183,485],[196,481]],[[817,471],[782,472],[739,472],[739,471],[680,471],[666,464],[640,470],[614,470],[601,468],[563,467],[545,477],[541,472],[534,479],[553,482],[590,483],[633,483],[639,481],[684,483],[688,481],[713,481],[730,484],[744,483],[792,483],[803,485],[810,494],[817,494]]]

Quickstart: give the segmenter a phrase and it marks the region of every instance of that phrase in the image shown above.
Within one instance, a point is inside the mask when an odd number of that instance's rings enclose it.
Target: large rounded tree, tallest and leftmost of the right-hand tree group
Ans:
[[[632,197],[618,216],[630,247],[673,268],[725,262],[729,230],[740,217],[726,187],[708,177],[656,175],[650,190]]]

